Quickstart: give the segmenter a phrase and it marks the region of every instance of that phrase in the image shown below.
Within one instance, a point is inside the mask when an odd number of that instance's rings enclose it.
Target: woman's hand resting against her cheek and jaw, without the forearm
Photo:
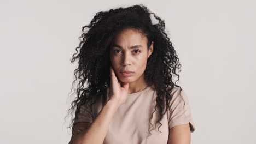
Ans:
[[[121,83],[123,84],[121,87]],[[114,69],[110,65],[110,98],[117,102],[118,107],[125,103],[128,95],[129,83],[124,83],[118,80],[115,76]]]

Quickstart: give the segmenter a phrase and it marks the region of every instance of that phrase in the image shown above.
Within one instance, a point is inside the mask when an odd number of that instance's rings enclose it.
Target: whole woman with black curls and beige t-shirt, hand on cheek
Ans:
[[[69,143],[190,143],[195,125],[173,83],[181,64],[164,21],[139,4],[98,12],[84,28],[71,60],[80,81]]]

